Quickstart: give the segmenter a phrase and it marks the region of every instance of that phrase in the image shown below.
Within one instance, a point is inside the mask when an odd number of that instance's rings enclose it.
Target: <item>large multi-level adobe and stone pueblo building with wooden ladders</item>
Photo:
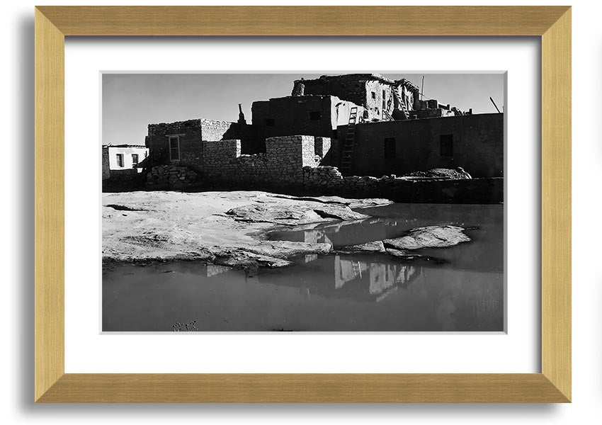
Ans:
[[[255,101],[251,113],[247,123],[239,104],[237,122],[149,124],[144,184],[503,202],[503,113],[421,100],[410,81],[378,74],[300,79],[290,96]]]

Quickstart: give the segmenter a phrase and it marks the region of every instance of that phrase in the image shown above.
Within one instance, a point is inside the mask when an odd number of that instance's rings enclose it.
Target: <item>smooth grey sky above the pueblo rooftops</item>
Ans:
[[[424,98],[473,113],[496,112],[504,106],[504,74],[391,74],[390,79],[409,79],[421,86]],[[102,145],[144,145],[147,125],[209,118],[238,120],[242,103],[251,123],[251,103],[289,96],[295,79],[314,79],[322,74],[103,74]]]

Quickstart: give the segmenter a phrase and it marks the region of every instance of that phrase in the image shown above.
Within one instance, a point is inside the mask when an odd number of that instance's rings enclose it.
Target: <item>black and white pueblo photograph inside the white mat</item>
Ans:
[[[504,72],[103,72],[104,332],[502,332]]]

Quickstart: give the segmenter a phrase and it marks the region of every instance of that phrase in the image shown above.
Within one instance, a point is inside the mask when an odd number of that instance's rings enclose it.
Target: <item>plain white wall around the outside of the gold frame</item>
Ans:
[[[6,268],[1,318],[1,418],[5,424],[589,424],[602,417],[602,6],[593,1],[530,1],[573,8],[573,403],[562,405],[34,405],[33,392],[33,5],[7,2],[1,14],[2,116],[16,125],[3,191]],[[99,4],[63,1],[62,4]],[[129,4],[166,4],[128,1]],[[178,4],[192,3],[180,1]],[[201,2],[195,2],[200,4]],[[205,2],[207,3],[207,2]],[[222,4],[227,2],[222,2]],[[230,2],[234,3],[234,2]],[[237,2],[241,3],[241,2]],[[263,4],[270,2],[263,1]],[[271,2],[283,3],[283,1]],[[328,4],[334,3],[332,1]],[[410,2],[416,4],[417,2]],[[423,1],[421,4],[426,4]],[[441,2],[440,2],[441,3]],[[460,2],[458,2],[460,3]],[[469,2],[465,2],[470,4]],[[472,4],[524,4],[474,1]],[[106,3],[108,4],[108,3]],[[304,4],[326,4],[305,1]],[[360,4],[344,1],[344,4]],[[363,2],[362,4],[370,4]],[[399,4],[379,1],[378,4]],[[301,19],[301,17],[300,17]],[[82,143],[97,143],[94,134]],[[534,165],[535,166],[535,165]],[[6,168],[7,167],[7,168]],[[8,239],[6,239],[8,237]],[[86,284],[86,276],[82,276]]]

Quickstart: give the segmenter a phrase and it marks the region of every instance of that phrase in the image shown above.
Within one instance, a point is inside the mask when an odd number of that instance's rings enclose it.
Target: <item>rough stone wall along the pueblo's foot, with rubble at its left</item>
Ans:
[[[334,166],[320,166],[320,154],[329,156],[327,137],[285,136],[266,140],[266,151],[242,154],[240,140],[203,142],[201,186],[227,190],[279,188],[284,193],[383,197],[399,202],[499,203],[503,179],[416,181],[397,176],[342,176]],[[330,147],[330,149],[329,149]],[[198,174],[181,165],[153,166],[145,176],[147,186],[178,189],[199,183]]]

